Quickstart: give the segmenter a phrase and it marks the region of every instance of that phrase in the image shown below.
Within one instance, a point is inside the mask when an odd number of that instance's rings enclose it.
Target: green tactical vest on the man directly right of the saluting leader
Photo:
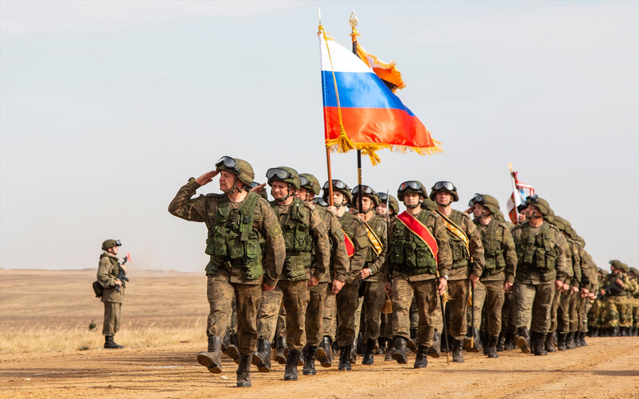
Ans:
[[[271,201],[271,206],[279,220],[277,201]],[[284,268],[286,276],[293,282],[305,280],[306,271],[312,265],[313,237],[309,225],[310,209],[304,202],[294,199],[288,208],[288,215],[281,223],[282,236],[286,245],[286,259]]]

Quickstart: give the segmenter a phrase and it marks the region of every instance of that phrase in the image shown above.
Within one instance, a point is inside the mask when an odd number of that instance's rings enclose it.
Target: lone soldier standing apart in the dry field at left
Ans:
[[[119,331],[122,301],[124,299],[125,282],[118,279],[120,269],[127,273],[127,266],[119,264],[116,257],[118,255],[119,239],[107,239],[102,243],[102,255],[100,255],[100,263],[98,266],[98,282],[104,288],[102,294],[102,302],[104,303],[104,326],[102,327],[102,335],[104,335],[105,349],[120,349],[122,345],[118,345],[113,341],[113,336]],[[116,289],[117,287],[117,289]]]

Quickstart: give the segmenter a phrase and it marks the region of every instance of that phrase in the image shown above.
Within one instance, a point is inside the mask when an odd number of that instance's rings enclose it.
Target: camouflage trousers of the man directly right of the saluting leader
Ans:
[[[277,327],[280,305],[283,302],[286,310],[286,343],[290,349],[301,350],[306,344],[305,320],[306,307],[309,303],[308,280],[300,282],[279,280],[275,289],[265,291],[264,294],[257,317],[259,338],[272,342]]]

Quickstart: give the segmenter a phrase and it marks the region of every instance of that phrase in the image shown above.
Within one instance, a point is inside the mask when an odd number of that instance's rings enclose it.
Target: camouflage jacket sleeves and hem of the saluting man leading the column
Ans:
[[[169,204],[169,213],[190,222],[203,222],[209,228],[215,223],[215,213],[220,195],[199,195],[199,197],[191,199],[199,187],[200,185],[191,177],[187,184],[180,187],[173,201]],[[258,231],[265,240],[264,252],[262,253],[263,279],[250,280],[239,267],[230,270],[220,268],[215,272],[215,275],[227,277],[231,283],[259,284],[264,282],[266,285],[273,286],[277,284],[286,253],[282,229],[280,229],[273,209],[265,199],[259,199],[254,214],[253,229]]]

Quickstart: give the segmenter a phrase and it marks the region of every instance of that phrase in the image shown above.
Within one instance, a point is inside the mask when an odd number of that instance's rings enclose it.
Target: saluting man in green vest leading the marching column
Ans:
[[[223,194],[191,197],[197,188],[220,175]],[[250,387],[250,363],[258,341],[257,315],[262,290],[275,288],[284,263],[284,238],[268,202],[249,192],[253,168],[244,160],[223,156],[215,170],[181,186],[169,213],[191,222],[203,222],[208,229],[204,269],[210,305],[206,335],[208,350],[197,354],[199,364],[212,373],[222,372],[222,336],[231,324],[231,301],[235,296],[240,359],[237,386]]]

